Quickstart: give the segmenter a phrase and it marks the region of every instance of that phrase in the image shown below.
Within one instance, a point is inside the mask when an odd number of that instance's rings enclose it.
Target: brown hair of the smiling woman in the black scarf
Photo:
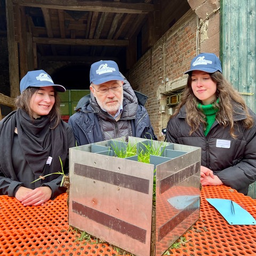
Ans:
[[[17,109],[23,109],[26,111],[26,113],[30,116],[31,120],[34,120],[33,112],[30,108],[30,100],[34,93],[36,93],[39,90],[40,87],[28,87],[25,91],[23,91],[16,99],[15,99],[15,105]],[[54,89],[54,86],[53,86]],[[54,89],[54,98],[55,102],[52,106],[52,109],[48,116],[50,117],[50,121],[53,121],[53,127],[51,129],[55,129],[60,121],[61,121],[61,115],[60,115],[60,97],[58,92]]]

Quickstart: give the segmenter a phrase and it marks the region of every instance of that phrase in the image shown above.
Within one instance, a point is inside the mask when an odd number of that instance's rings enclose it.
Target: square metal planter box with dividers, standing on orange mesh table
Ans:
[[[162,154],[150,164],[116,157],[127,143]],[[69,225],[135,255],[162,255],[199,218],[200,165],[201,148],[134,137],[70,148]]]

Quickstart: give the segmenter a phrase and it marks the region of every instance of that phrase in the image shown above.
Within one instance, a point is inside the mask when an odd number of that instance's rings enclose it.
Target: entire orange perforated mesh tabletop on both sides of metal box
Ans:
[[[229,225],[205,198],[231,199],[256,218],[256,200],[226,186],[203,187],[200,218],[171,255],[256,255],[256,225]],[[0,196],[0,255],[117,255],[107,243],[77,241],[69,229],[67,195],[43,206]]]

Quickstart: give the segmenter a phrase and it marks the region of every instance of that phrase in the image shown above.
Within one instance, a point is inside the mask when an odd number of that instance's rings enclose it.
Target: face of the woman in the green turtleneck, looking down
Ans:
[[[217,83],[212,80],[209,73],[201,70],[192,71],[191,87],[203,105],[209,105],[216,100]]]

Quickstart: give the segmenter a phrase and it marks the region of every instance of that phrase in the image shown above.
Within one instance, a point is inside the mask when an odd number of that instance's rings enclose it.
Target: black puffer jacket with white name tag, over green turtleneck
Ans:
[[[256,123],[256,115],[251,110],[250,114]],[[245,113],[240,109],[234,116],[236,139],[231,137],[229,127],[223,127],[217,121],[205,137],[203,125],[189,135],[190,126],[185,118],[183,106],[167,124],[166,141],[201,147],[201,165],[212,170],[225,185],[246,195],[249,185],[256,180],[256,125],[245,129],[242,125]]]

